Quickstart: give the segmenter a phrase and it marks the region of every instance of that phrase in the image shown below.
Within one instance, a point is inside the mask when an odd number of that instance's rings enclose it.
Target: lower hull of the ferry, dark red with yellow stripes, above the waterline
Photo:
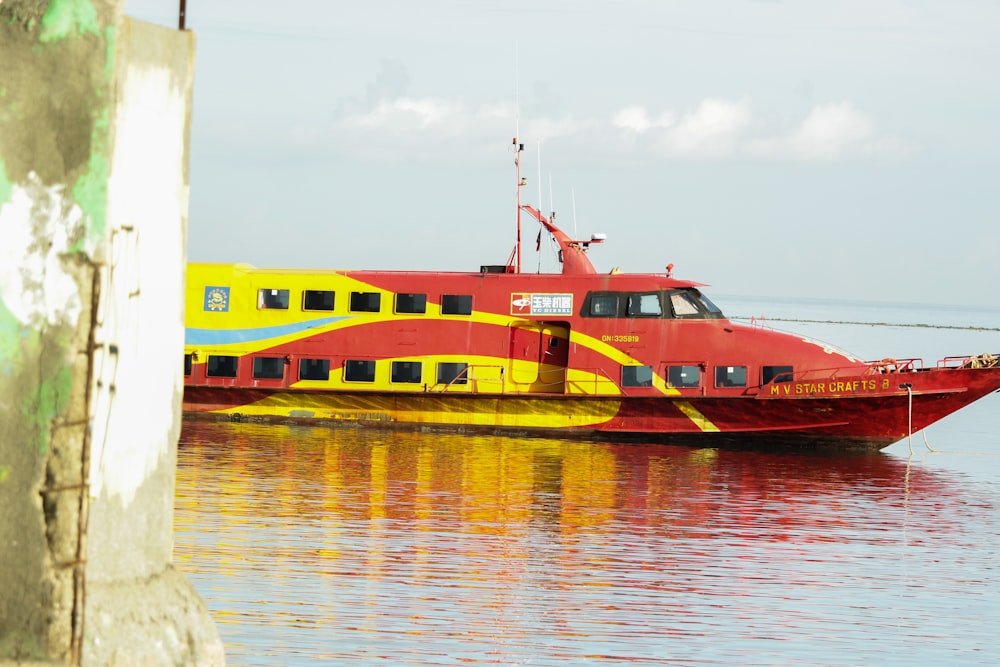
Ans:
[[[449,394],[188,387],[191,419],[377,426],[667,442],[697,447],[877,450],[1000,387],[1000,368],[891,377],[891,390],[734,397]],[[907,386],[908,385],[908,386]],[[784,388],[782,388],[784,389]]]

